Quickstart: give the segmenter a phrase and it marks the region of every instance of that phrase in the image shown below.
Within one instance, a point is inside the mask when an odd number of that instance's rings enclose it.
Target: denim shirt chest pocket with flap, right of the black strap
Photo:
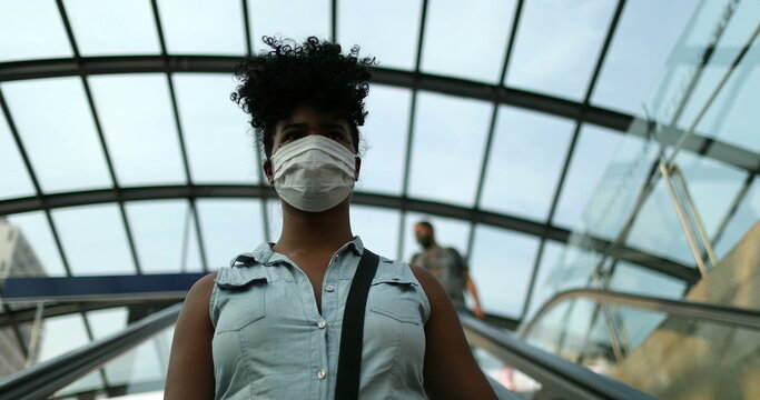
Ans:
[[[398,322],[421,324],[418,283],[409,278],[379,278],[369,288],[369,311]]]

